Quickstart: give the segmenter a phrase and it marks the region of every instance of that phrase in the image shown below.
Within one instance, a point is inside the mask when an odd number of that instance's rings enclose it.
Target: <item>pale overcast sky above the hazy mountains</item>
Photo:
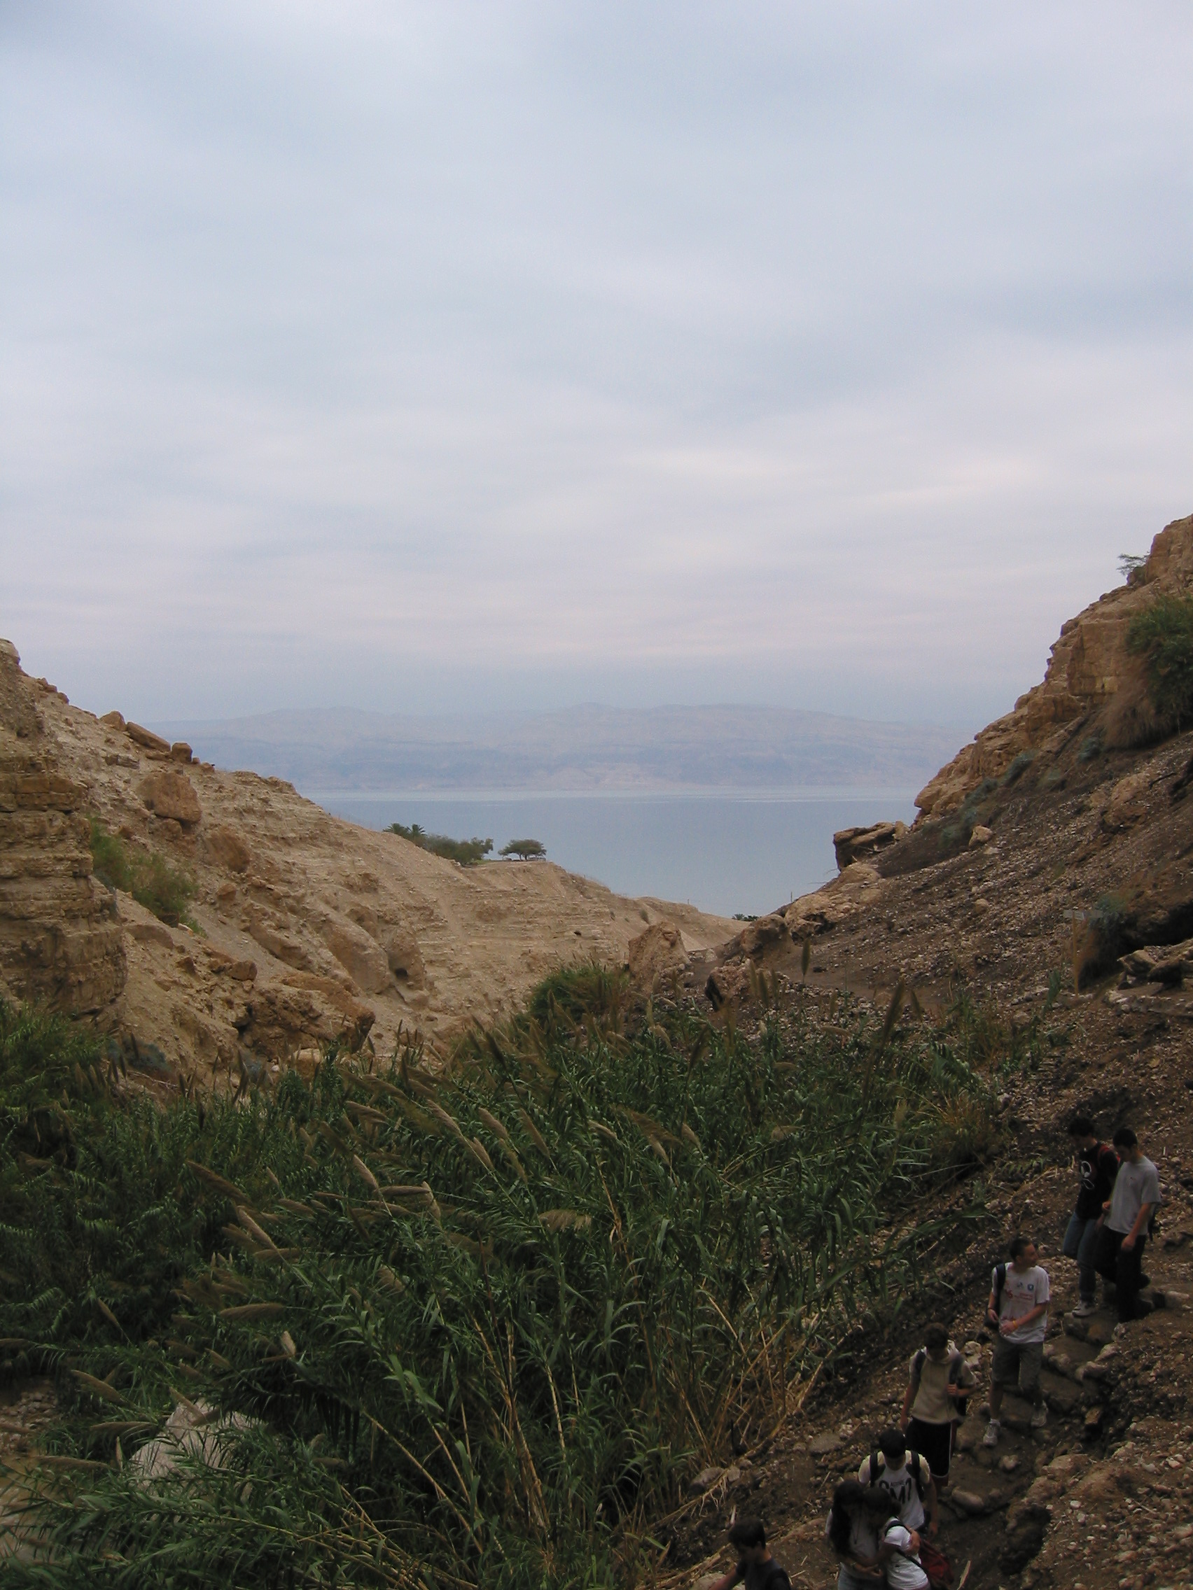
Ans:
[[[1193,510],[1190,80],[1185,0],[0,0],[0,634],[973,730]]]

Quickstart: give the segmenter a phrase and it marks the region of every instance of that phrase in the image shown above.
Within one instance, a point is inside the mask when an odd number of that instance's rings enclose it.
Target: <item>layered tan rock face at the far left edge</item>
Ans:
[[[75,1013],[108,1005],[127,975],[111,895],[91,876],[84,803],[0,641],[0,979]]]

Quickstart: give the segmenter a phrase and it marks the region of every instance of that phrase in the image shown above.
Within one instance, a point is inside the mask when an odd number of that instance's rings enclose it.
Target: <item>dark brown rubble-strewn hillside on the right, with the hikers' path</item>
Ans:
[[[687,1565],[676,1587],[724,1568],[735,1507],[768,1517],[797,1585],[830,1582],[832,1485],[897,1412],[926,1318],[970,1340],[985,1380],[989,1267],[1016,1229],[1036,1235],[1055,1285],[1051,1423],[1031,1431],[1028,1409],[1010,1404],[991,1453],[983,1394],[972,1399],[940,1544],[969,1590],[1193,1582],[1193,730],[1164,722],[1128,644],[1133,619],[1161,596],[1193,596],[1193,518],[1066,623],[1045,681],[932,779],[911,828],[838,835],[830,884],[689,962],[692,994],[705,989],[740,1024],[759,970],[781,1000],[832,1008],[834,991],[849,989],[878,1013],[894,997],[907,1022],[964,991],[1034,1057],[1001,1100],[988,1227],[848,1383],[822,1388],[764,1450],[725,1455],[674,1523]],[[1104,1137],[1134,1126],[1164,1188],[1145,1267],[1166,1307],[1118,1329],[1106,1312],[1066,1317],[1077,1301],[1059,1253],[1074,1196],[1066,1123],[1078,1108]]]

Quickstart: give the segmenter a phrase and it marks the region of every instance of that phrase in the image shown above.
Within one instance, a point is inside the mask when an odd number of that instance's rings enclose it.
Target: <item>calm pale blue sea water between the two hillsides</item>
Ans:
[[[676,793],[464,793],[304,790],[367,828],[420,824],[453,840],[541,840],[568,871],[617,894],[760,916],[837,873],[832,836],[911,822],[911,790],[803,789]]]

